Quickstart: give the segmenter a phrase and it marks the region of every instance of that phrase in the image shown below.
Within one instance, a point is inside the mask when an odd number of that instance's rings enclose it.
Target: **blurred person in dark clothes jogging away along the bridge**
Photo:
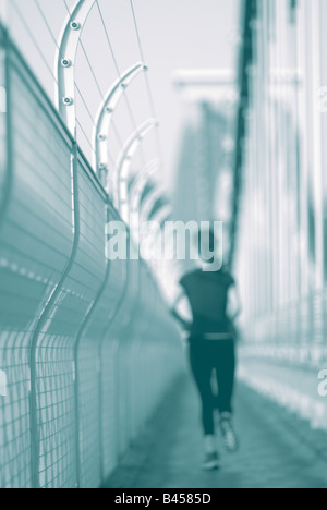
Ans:
[[[213,252],[215,235],[210,232]],[[201,246],[201,239],[197,240]],[[199,250],[201,252],[201,250]],[[202,255],[199,253],[199,255]],[[205,264],[213,264],[213,260]],[[215,411],[219,411],[219,426],[225,446],[238,449],[232,416],[235,376],[234,320],[241,312],[233,277],[222,267],[218,271],[204,267],[186,274],[180,281],[183,292],[172,308],[172,315],[189,332],[191,369],[202,400],[202,422],[205,435],[204,470],[217,470],[220,459],[217,448]],[[191,306],[193,320],[181,312]],[[217,396],[218,386],[218,396]],[[216,387],[216,391],[215,391]]]

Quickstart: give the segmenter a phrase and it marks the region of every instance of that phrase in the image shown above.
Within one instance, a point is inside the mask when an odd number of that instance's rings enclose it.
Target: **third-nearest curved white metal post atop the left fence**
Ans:
[[[158,126],[156,119],[149,119],[144,124],[140,125],[126,141],[122,151],[118,158],[117,171],[114,175],[114,196],[113,203],[119,209],[124,221],[129,221],[129,186],[128,179],[132,165],[132,158],[137,150],[143,138],[154,129]],[[109,184],[109,183],[108,183]],[[109,187],[109,186],[108,186]],[[109,190],[108,190],[109,191]]]

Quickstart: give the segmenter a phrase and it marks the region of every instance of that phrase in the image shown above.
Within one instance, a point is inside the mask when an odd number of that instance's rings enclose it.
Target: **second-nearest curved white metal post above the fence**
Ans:
[[[108,138],[113,113],[125,89],[142,71],[147,71],[147,66],[142,62],[125,71],[109,88],[97,113],[93,133],[94,168],[104,184],[108,173]]]

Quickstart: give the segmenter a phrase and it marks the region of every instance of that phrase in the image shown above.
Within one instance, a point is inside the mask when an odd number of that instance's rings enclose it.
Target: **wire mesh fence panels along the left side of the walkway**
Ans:
[[[98,487],[179,373],[179,341],[142,263],[106,258],[118,215],[0,41],[0,486]]]

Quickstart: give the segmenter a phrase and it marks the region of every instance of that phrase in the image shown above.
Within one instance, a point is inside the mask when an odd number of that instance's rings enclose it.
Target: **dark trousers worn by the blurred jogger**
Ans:
[[[191,368],[202,400],[205,435],[215,434],[214,412],[232,412],[235,377],[235,342],[230,340],[192,339]],[[214,372],[215,371],[215,372]],[[216,373],[218,397],[214,394],[213,374]]]

